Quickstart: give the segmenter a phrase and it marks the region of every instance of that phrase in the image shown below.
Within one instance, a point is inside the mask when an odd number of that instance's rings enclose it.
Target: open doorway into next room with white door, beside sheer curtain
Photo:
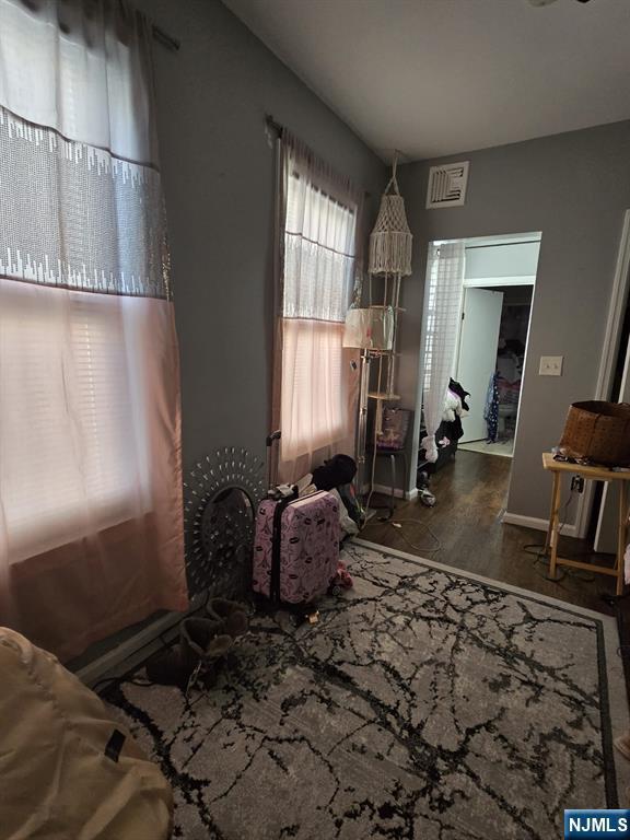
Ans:
[[[453,464],[459,451],[475,453],[470,457],[513,456],[540,240],[538,232],[459,241],[465,255],[460,313],[451,337],[455,350],[443,422],[435,434],[439,457],[422,467],[429,475]],[[428,282],[435,282],[436,275],[428,270]],[[427,311],[424,318],[430,317]],[[423,362],[427,369],[431,359]]]

